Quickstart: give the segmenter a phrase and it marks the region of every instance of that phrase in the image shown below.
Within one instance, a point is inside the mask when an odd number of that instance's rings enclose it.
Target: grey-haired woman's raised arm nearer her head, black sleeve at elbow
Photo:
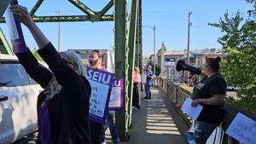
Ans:
[[[73,81],[73,78],[79,78],[79,75],[61,60],[61,56],[32,20],[27,9],[20,5],[15,5],[11,7],[11,10],[20,17],[20,21],[24,23],[32,33],[32,36],[38,44],[38,54],[48,64],[49,69],[54,73],[59,84],[65,86],[65,84]]]

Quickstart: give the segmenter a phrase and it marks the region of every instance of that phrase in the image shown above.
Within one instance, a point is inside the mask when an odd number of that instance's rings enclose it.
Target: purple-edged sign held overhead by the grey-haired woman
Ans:
[[[23,37],[23,32],[20,26],[20,19],[16,14],[9,9],[10,6],[18,4],[17,0],[11,0],[8,8],[6,9],[5,20],[9,28],[11,35],[11,43],[13,46],[14,53],[24,53],[27,52],[25,39]]]

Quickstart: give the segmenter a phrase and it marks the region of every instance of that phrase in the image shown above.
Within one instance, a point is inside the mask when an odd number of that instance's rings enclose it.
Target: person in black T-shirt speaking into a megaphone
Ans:
[[[206,77],[193,89],[191,106],[203,107],[195,120],[194,141],[196,144],[205,144],[212,131],[224,118],[224,98],[226,95],[226,82],[219,73],[221,58],[207,58],[204,72]]]

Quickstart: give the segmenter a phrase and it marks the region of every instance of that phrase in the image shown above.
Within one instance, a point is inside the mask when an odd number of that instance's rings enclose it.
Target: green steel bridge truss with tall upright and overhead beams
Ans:
[[[56,15],[38,16],[36,11],[44,0],[38,0],[30,14],[36,22],[67,22],[67,21],[114,21],[114,66],[116,78],[124,78],[124,109],[116,112],[116,125],[122,141],[129,139],[129,128],[131,126],[131,104],[132,104],[132,72],[134,66],[143,69],[142,50],[142,0],[110,0],[101,11],[93,11],[79,0],[68,0],[84,15]],[[128,9],[131,5],[131,9]],[[113,14],[107,14],[113,8]],[[0,18],[0,23],[5,22]],[[3,49],[0,53],[12,55],[12,50],[0,31],[0,42]]]

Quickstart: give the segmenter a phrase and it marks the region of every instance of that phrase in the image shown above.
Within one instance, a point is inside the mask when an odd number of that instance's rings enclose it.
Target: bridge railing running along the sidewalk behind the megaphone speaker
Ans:
[[[164,77],[158,77],[157,78],[157,84],[160,90],[164,91],[166,95],[172,100],[172,104],[174,104],[175,108],[177,109],[177,112],[179,112],[185,122],[187,124],[191,124],[191,119],[188,115],[183,113],[181,111],[181,107],[183,105],[183,102],[188,98],[193,91],[193,88],[187,86],[186,84],[180,84],[172,82],[169,78]],[[239,109],[238,107],[235,107],[231,104],[225,103],[224,105],[224,120],[221,124],[222,130],[227,130],[227,128],[230,126],[233,119],[236,117],[236,114],[238,112],[241,112],[245,114],[247,117],[252,118],[253,120],[256,120],[256,115],[253,114],[253,112],[247,112],[244,110]],[[224,134],[224,144],[238,144],[239,141],[236,141],[233,139],[230,135]]]

